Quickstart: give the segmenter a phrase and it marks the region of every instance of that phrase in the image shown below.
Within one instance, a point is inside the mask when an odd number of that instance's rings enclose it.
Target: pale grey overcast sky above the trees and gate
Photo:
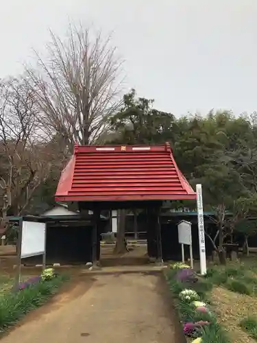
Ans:
[[[175,115],[257,110],[256,0],[1,0],[0,78],[21,71],[48,29],[69,21],[108,34],[127,88]]]

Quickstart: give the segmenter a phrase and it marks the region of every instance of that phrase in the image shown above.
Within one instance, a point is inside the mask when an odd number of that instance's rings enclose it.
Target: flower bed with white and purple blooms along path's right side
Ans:
[[[172,268],[166,273],[175,298],[184,334],[192,343],[229,343],[225,332],[208,305],[208,291],[212,283],[197,278],[188,267]]]

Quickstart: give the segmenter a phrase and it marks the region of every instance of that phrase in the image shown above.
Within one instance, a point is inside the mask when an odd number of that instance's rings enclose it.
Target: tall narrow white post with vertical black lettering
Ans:
[[[205,234],[204,234],[204,209],[203,198],[201,195],[201,185],[196,185],[197,193],[197,217],[198,217],[198,235],[199,235],[199,253],[201,275],[206,274],[206,248],[205,248]]]

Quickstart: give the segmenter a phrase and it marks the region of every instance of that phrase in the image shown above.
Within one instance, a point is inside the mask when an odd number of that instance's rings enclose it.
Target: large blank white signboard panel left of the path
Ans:
[[[46,224],[23,221],[21,259],[45,254]]]

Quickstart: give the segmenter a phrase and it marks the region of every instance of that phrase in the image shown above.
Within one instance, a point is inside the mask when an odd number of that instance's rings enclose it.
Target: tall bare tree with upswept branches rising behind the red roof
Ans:
[[[108,117],[121,105],[121,60],[101,34],[90,36],[82,25],[70,25],[65,40],[51,33],[47,58],[36,53],[37,67],[27,67],[40,123],[62,134],[73,150],[75,142],[101,143]]]

